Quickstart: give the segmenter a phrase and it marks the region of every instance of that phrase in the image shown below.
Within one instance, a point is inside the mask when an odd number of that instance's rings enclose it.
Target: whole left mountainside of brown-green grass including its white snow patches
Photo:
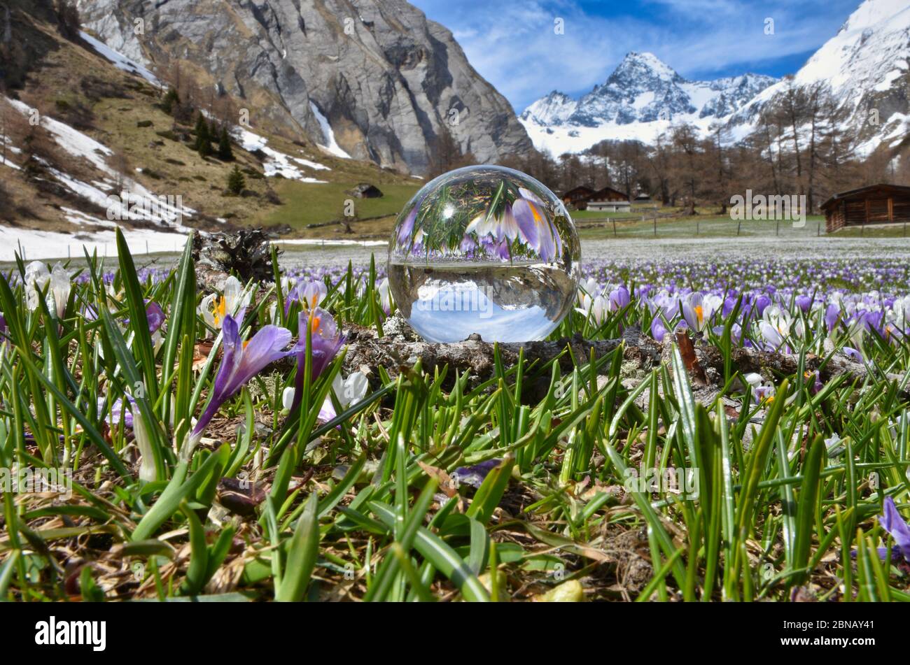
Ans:
[[[360,182],[387,194],[357,202],[367,219],[397,213],[419,186],[262,129],[228,126],[234,159],[203,158],[195,115],[167,113],[153,74],[77,26],[65,38],[45,11],[50,0],[6,2],[11,42],[24,48],[0,45],[0,261],[12,260],[19,243],[28,259],[81,255],[83,243],[113,252],[116,226],[143,253],[178,249],[189,227],[265,224],[312,235],[304,227],[338,219]],[[240,196],[225,192],[235,165],[246,178]]]

